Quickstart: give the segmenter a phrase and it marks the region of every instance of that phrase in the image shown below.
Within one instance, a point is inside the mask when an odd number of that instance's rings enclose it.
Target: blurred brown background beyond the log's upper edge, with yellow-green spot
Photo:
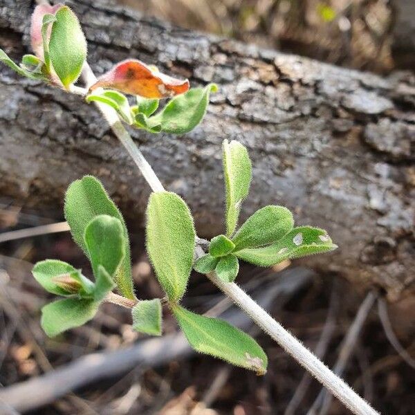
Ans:
[[[413,0],[119,0],[183,28],[340,66],[414,68]]]

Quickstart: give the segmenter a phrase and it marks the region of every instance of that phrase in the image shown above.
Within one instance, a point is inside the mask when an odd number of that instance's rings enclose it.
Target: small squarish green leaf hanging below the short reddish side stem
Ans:
[[[160,299],[144,299],[131,311],[133,329],[149,335],[161,335]]]

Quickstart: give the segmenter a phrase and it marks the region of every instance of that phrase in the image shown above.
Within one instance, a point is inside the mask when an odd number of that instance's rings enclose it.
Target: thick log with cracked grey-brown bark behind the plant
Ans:
[[[67,3],[95,73],[136,57],[193,86],[219,85],[191,133],[132,131],[165,187],[189,203],[199,236],[223,232],[221,142],[236,139],[254,166],[241,219],[286,205],[297,224],[326,228],[340,246],[307,264],[359,288],[381,286],[389,299],[414,291],[414,77],[381,78],[201,35],[109,1]],[[16,59],[28,53],[32,10],[32,1],[0,1],[0,44]],[[93,106],[6,66],[0,98],[0,194],[56,212],[68,183],[93,174],[130,223],[142,224],[149,188]]]

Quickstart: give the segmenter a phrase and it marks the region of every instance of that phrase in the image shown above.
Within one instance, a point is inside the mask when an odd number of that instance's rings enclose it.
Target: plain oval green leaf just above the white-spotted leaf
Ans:
[[[261,208],[234,234],[235,251],[278,241],[293,229],[293,225],[293,214],[287,208],[273,205]]]

